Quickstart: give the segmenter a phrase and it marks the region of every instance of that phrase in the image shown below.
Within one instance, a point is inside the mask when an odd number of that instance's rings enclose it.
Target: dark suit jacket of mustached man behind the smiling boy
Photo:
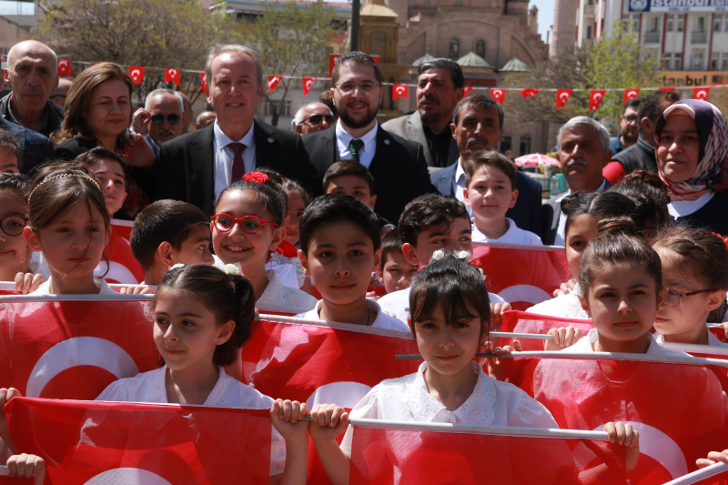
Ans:
[[[450,167],[441,168],[430,173],[432,185],[438,189],[443,196],[454,196],[452,193],[452,181],[455,179],[455,172],[458,169],[458,162]],[[531,231],[541,236],[541,184],[527,175],[516,172],[516,189],[518,199],[516,205],[506,212],[519,228]]]

